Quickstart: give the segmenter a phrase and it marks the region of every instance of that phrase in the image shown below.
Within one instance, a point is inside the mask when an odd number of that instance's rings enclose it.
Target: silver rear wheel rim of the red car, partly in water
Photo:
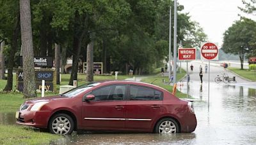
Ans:
[[[172,134],[176,133],[176,125],[172,121],[163,121],[159,126],[160,134]]]

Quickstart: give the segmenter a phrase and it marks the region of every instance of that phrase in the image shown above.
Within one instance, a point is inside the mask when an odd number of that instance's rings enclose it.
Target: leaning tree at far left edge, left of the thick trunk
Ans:
[[[5,91],[13,88],[13,67],[15,66],[20,35],[20,13],[19,1],[0,1],[0,34],[1,39],[5,40],[6,51],[4,57],[7,60],[6,67],[8,69],[7,83],[4,87]]]

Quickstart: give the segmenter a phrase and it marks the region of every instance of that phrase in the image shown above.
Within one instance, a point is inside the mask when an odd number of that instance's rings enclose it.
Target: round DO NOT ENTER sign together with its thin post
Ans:
[[[201,44],[201,59],[209,60],[209,73],[208,73],[208,111],[210,107],[210,60],[219,59],[219,50],[216,43],[202,43]],[[202,85],[202,84],[201,84]]]

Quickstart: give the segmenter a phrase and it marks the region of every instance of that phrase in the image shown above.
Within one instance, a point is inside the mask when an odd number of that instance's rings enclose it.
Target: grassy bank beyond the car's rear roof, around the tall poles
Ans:
[[[184,71],[183,69],[182,69],[181,73],[179,73],[179,71],[178,71],[177,80],[180,80],[185,75],[186,75],[186,71]],[[153,83],[154,85],[160,86],[162,88],[165,88],[169,92],[172,92],[173,86],[163,83],[163,79],[164,79],[164,82],[166,82],[166,83],[169,82],[168,76],[163,77],[160,74],[158,76],[150,76],[148,78],[142,79],[141,81],[143,81],[145,83],[152,83],[154,81],[154,83]],[[175,95],[179,98],[186,98],[187,97],[186,93],[181,93],[181,92],[179,92],[179,90],[177,90]]]

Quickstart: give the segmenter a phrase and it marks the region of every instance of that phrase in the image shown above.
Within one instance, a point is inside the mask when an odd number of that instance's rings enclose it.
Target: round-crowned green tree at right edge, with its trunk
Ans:
[[[241,62],[241,69],[243,69],[244,55],[254,50],[250,43],[254,41],[256,22],[248,18],[242,18],[228,28],[223,34],[223,51],[225,53],[231,53],[239,55]]]

